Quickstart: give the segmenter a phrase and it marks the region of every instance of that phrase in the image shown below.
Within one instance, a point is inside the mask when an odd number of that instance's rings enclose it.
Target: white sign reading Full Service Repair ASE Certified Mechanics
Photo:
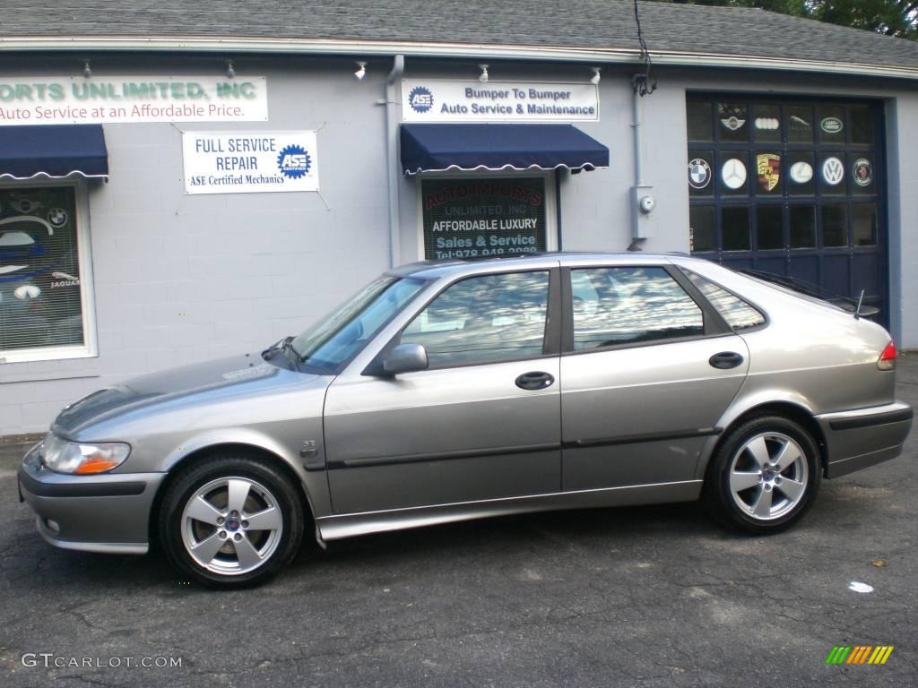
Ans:
[[[313,131],[185,131],[185,194],[319,191]]]

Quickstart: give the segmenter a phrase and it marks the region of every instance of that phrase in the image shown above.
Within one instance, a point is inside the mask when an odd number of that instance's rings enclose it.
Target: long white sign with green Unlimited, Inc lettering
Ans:
[[[263,76],[0,77],[0,127],[267,118]]]

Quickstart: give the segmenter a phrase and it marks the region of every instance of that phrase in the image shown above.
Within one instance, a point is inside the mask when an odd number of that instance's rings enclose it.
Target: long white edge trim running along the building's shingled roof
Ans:
[[[524,61],[594,61],[600,64],[637,64],[640,51],[626,48],[581,48],[577,46],[490,45],[372,39],[275,39],[250,37],[149,37],[130,36],[0,37],[0,52],[218,52],[357,55],[363,57],[406,57],[503,59]],[[742,68],[786,72],[816,72],[856,76],[918,80],[918,67],[856,62],[815,61],[725,53],[652,50],[657,65],[677,67]]]

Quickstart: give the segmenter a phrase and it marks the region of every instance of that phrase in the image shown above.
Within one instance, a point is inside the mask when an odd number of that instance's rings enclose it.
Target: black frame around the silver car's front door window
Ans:
[[[512,363],[519,361],[541,361],[543,359],[557,358],[561,353],[561,322],[562,322],[562,286],[561,286],[561,274],[560,268],[529,268],[527,270],[504,270],[498,272],[476,272],[476,274],[464,275],[458,279],[455,279],[449,283],[443,284],[441,289],[438,289],[434,294],[431,295],[423,304],[418,306],[418,309],[412,314],[408,322],[406,322],[402,327],[399,327],[396,335],[391,338],[385,347],[376,354],[375,359],[369,366],[364,370],[365,374],[372,374],[371,371],[375,369],[382,369],[380,364],[383,359],[386,358],[389,351],[395,349],[399,344],[401,344],[402,334],[405,330],[414,322],[415,318],[420,316],[424,310],[427,309],[440,295],[445,292],[447,289],[450,289],[454,285],[465,282],[466,280],[474,280],[478,277],[491,277],[495,275],[505,275],[505,274],[524,274],[527,272],[548,272],[548,305],[545,310],[545,328],[543,331],[543,341],[542,341],[542,353],[538,356],[514,356],[509,359],[493,359],[487,361],[471,361],[465,363],[453,363],[449,365],[431,365],[429,368],[424,371],[418,371],[420,373],[426,371],[446,371],[458,368],[472,368],[476,366],[483,365],[498,365],[500,363]]]

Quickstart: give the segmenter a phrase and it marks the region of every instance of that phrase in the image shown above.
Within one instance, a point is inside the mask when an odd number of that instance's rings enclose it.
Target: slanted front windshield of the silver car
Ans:
[[[291,348],[300,361],[337,372],[424,284],[423,280],[380,277],[295,338]]]

